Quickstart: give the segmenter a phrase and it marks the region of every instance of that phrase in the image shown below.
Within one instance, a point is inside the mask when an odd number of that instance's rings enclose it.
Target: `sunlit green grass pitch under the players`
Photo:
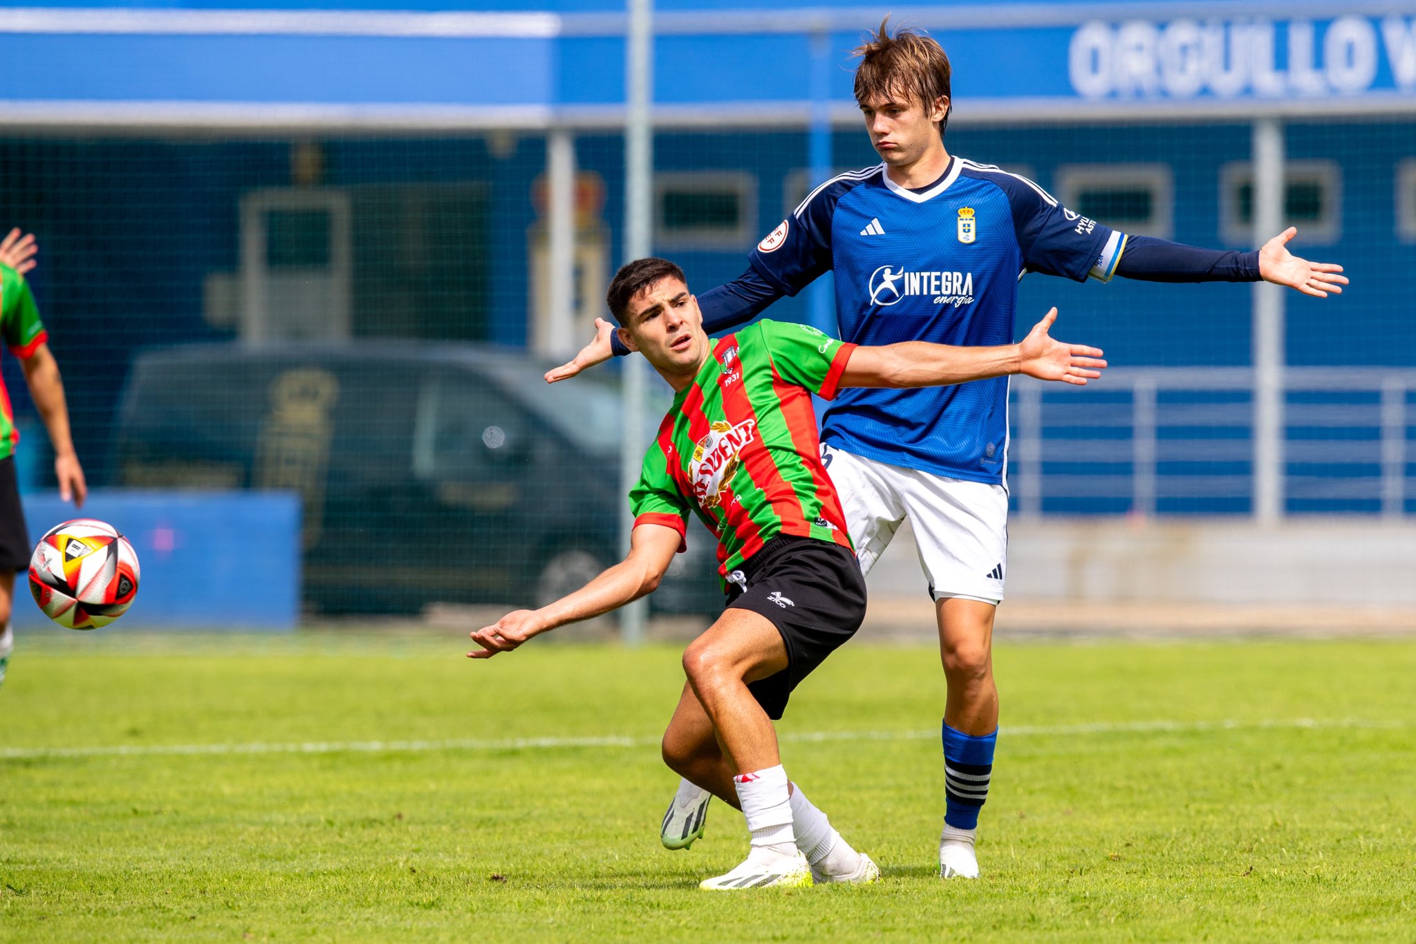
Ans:
[[[0,940],[1416,940],[1413,641],[1003,640],[973,883],[936,877],[937,655],[852,644],[783,760],[885,877],[745,894],[697,889],[728,807],[658,846],[677,650],[463,650],[21,637]]]

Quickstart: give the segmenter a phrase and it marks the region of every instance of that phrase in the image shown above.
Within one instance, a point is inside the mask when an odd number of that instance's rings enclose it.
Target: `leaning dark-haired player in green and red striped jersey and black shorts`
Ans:
[[[875,863],[787,780],[772,726],[792,691],[865,616],[865,577],[818,451],[811,395],[1015,372],[1086,384],[1106,367],[1102,352],[1048,337],[1055,309],[1021,344],[994,347],[857,347],[776,321],[711,341],[683,270],[664,259],[620,269],[609,306],[620,340],[677,392],[630,491],[629,556],[555,603],[477,630],[481,650],[469,655],[490,658],[651,593],[687,548],[688,515],[697,514],[718,541],[728,599],[684,652],[687,684],[663,753],[683,777],[739,807],[752,835],[746,860],[702,887],[872,882]]]

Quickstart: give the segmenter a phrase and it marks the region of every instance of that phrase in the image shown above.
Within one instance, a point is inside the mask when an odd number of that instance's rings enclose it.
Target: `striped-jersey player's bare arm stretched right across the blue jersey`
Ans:
[[[946,386],[1005,374],[1085,385],[1100,376],[1100,348],[1056,341],[1048,334],[1058,310],[1048,311],[1020,344],[950,347],[905,341],[858,347],[841,372],[841,386]]]

